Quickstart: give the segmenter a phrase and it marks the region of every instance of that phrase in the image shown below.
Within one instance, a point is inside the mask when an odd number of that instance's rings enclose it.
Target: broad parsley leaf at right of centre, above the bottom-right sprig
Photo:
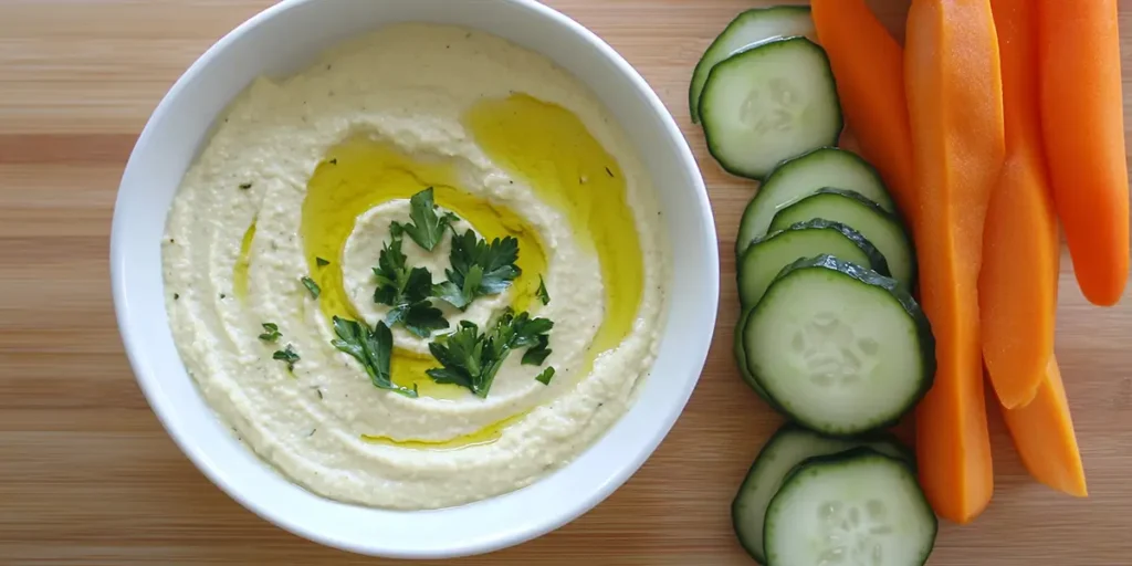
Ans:
[[[472,230],[453,235],[448,256],[452,269],[445,271],[448,281],[436,285],[432,294],[458,309],[468,308],[477,297],[499,294],[511,286],[522,273],[515,265],[517,259],[518,240],[509,235],[491,243]]]

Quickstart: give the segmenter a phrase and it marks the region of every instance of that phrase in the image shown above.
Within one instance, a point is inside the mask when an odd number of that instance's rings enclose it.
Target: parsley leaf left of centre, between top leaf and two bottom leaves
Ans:
[[[374,302],[393,307],[385,317],[386,324],[393,326],[403,323],[409,332],[427,338],[432,335],[432,331],[447,328],[448,320],[429,301],[432,274],[423,267],[410,269],[405,265],[401,243],[401,237],[394,235],[381,249],[378,266],[374,268],[377,277]]]

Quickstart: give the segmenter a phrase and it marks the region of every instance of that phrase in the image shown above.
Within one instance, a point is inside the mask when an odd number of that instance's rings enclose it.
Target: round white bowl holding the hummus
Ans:
[[[181,178],[215,118],[258,75],[285,76],[342,40],[397,22],[456,24],[538,51],[586,84],[620,121],[652,177],[671,242],[660,355],[629,411],[564,469],[460,507],[394,512],[316,496],[239,444],[186,374],[169,329],[160,241]],[[344,550],[402,558],[516,544],[585,513],[624,483],[676,422],[703,369],[719,298],[706,190],[671,115],[608,44],[531,0],[293,0],[213,45],[154,111],[130,155],[111,235],[114,306],[142,391],[189,460],[232,498],[288,531]]]

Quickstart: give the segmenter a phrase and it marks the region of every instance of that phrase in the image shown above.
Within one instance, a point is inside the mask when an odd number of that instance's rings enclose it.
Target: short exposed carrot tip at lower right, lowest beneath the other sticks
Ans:
[[[1065,386],[1050,357],[1030,404],[1003,411],[1014,448],[1034,479],[1071,496],[1088,497],[1081,452],[1073,432]]]

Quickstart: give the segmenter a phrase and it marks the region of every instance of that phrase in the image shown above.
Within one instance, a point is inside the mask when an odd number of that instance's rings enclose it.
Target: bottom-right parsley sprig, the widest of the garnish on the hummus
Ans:
[[[443,367],[426,374],[438,384],[458,385],[487,397],[507,354],[543,343],[552,327],[554,323],[546,318],[531,318],[526,312],[515,316],[509,310],[487,333],[480,333],[475,323],[461,320],[456,332],[429,344],[429,351]]]

